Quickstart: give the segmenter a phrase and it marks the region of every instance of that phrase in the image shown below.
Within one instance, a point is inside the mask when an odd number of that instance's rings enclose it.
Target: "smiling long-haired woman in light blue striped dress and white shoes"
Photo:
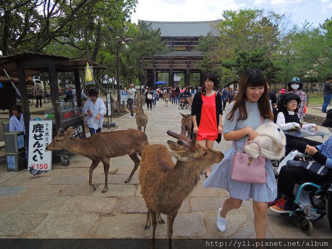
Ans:
[[[226,230],[227,213],[232,209],[240,208],[243,201],[252,198],[256,238],[264,239],[268,227],[268,202],[274,201],[277,196],[271,161],[266,159],[266,184],[251,184],[230,179],[235,148],[241,152],[246,140],[253,140],[257,136],[255,129],[262,123],[273,120],[268,86],[262,71],[249,69],[243,74],[239,92],[229,104],[225,116],[224,139],[233,143],[224,153],[225,157],[220,165],[206,179],[203,186],[218,187],[229,192],[230,197],[218,210],[217,228],[221,232]]]

